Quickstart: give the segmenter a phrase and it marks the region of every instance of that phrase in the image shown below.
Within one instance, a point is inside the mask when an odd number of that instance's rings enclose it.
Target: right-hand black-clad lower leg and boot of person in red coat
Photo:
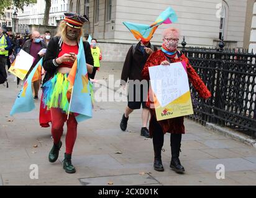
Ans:
[[[171,134],[171,163],[170,168],[177,173],[184,172],[185,169],[180,163],[181,134]]]

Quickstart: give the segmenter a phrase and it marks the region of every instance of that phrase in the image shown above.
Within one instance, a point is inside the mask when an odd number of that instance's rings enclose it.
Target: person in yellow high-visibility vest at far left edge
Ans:
[[[6,62],[8,51],[11,49],[12,43],[10,38],[4,34],[4,30],[0,27],[0,74],[7,81]]]

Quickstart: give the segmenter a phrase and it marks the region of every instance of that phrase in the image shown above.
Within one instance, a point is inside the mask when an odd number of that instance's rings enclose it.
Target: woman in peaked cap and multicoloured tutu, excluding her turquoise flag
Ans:
[[[43,68],[46,73],[43,79],[40,125],[42,127],[48,127],[48,122],[52,122],[53,147],[48,155],[48,160],[53,163],[57,160],[60,147],[62,147],[62,141],[60,139],[63,134],[63,125],[66,121],[66,152],[65,160],[63,161],[63,168],[66,173],[75,173],[76,171],[71,163],[71,154],[76,140],[78,124],[76,114],[71,113],[75,111],[69,111],[68,109],[70,106],[69,103],[71,103],[71,99],[68,97],[68,88],[71,83],[67,79],[72,72],[72,66],[75,65],[81,53],[86,57],[86,64],[84,64],[83,67],[85,69],[87,68],[90,74],[93,72],[94,62],[90,45],[87,41],[80,39],[83,37],[83,29],[81,27],[87,21],[88,18],[86,15],[81,16],[70,12],[65,13],[65,19],[58,25],[57,35],[49,41],[47,52],[43,59]],[[84,51],[80,49],[84,49]],[[78,53],[78,51],[80,53]],[[78,75],[76,71],[75,75]],[[75,79],[75,77],[73,77],[73,79]],[[84,79],[85,78],[83,78],[83,80]],[[88,83],[88,76],[85,82]],[[73,100],[75,99],[72,99],[72,102]],[[85,103],[85,100],[82,102]],[[76,108],[81,108],[81,106],[76,105]]]

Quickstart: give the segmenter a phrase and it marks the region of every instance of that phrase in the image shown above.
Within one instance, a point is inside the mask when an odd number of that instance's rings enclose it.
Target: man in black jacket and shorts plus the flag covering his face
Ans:
[[[145,66],[145,62],[149,58],[153,51],[157,48],[151,45],[150,40],[153,37],[153,33],[157,30],[161,24],[171,24],[176,22],[177,16],[175,11],[168,7],[163,11],[157,20],[151,25],[134,24],[131,22],[123,22],[124,25],[130,30],[137,40],[140,40],[137,45],[132,45],[126,55],[126,61],[121,74],[121,85],[125,87],[127,79],[129,79],[128,88],[128,105],[122,115],[120,127],[122,131],[126,131],[129,114],[132,111],[140,109],[142,105],[142,128],[140,135],[149,137],[149,129],[147,129],[147,123],[149,121],[149,108],[145,105],[147,100],[148,84],[144,84],[142,81],[142,69]]]

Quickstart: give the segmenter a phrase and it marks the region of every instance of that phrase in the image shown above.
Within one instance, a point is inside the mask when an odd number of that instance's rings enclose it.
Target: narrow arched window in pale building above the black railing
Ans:
[[[226,1],[222,1],[221,6],[221,22],[219,25],[219,39],[226,40],[227,38],[227,22],[229,17],[229,6]]]

